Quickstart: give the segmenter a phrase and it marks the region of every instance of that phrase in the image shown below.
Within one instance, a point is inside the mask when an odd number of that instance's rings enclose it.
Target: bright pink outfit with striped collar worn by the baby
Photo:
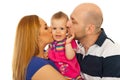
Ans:
[[[77,49],[75,40],[71,41],[73,49]],[[58,67],[61,74],[70,78],[76,78],[80,75],[80,66],[76,56],[72,60],[68,60],[65,56],[65,40],[54,41],[48,51],[48,57]]]

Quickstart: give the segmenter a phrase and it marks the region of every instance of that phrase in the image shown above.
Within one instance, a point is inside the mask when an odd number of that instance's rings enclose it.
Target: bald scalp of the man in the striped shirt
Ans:
[[[103,15],[101,9],[96,4],[82,3],[74,9],[73,13],[78,18],[84,17],[86,24],[91,23],[96,26],[96,29],[100,29],[103,22]]]

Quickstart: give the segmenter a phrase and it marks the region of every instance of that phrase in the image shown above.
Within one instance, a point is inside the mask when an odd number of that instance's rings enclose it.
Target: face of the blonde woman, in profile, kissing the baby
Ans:
[[[48,44],[53,41],[51,28],[47,26],[46,22],[40,18],[40,40]]]

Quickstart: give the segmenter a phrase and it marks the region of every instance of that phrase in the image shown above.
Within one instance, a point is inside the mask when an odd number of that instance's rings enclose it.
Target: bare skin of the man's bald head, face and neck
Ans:
[[[102,20],[100,8],[92,3],[78,5],[70,16],[67,26],[75,33],[75,39],[82,44],[86,53],[101,32]]]

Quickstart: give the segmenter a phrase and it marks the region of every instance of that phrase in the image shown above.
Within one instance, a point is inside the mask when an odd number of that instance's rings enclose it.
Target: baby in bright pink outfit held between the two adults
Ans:
[[[51,28],[54,42],[48,50],[48,58],[55,63],[60,73],[67,79],[83,80],[76,59],[77,44],[74,40],[74,33],[69,32],[66,26],[67,21],[68,16],[61,11],[52,16]]]

